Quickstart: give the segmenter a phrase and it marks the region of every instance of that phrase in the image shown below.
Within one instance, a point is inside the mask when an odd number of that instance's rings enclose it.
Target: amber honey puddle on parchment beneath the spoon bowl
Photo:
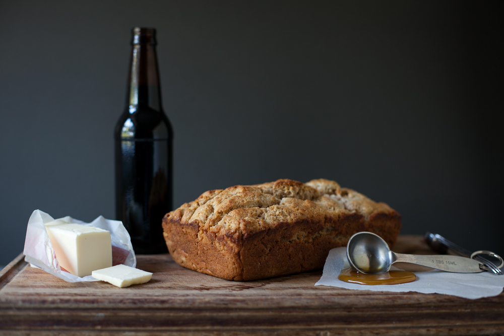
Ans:
[[[397,285],[415,281],[414,273],[391,270],[382,274],[364,274],[353,268],[343,268],[338,279],[360,285]]]

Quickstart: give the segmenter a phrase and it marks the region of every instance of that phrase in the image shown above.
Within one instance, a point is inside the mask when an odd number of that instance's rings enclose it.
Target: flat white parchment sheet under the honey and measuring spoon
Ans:
[[[338,247],[329,251],[324,272],[315,286],[333,286],[363,291],[418,292],[459,296],[466,299],[479,299],[496,296],[504,287],[504,276],[489,272],[450,273],[438,270],[414,272],[417,279],[399,285],[359,285],[338,280],[342,268],[349,267],[346,248]]]

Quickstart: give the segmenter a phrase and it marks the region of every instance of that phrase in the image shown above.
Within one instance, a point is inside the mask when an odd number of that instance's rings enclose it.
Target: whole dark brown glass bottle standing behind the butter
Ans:
[[[115,126],[116,217],[135,253],[167,252],[163,216],[172,208],[172,139],[161,106],[156,30],[134,28],[127,102]]]

